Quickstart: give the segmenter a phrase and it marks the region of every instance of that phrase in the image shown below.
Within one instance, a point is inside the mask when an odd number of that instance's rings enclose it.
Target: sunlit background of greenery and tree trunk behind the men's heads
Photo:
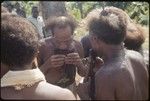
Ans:
[[[31,16],[32,6],[39,7],[39,15],[42,16],[43,21],[53,15],[72,15],[79,23],[78,28],[75,30],[75,39],[80,40],[87,34],[85,28],[85,20],[87,14],[96,8],[106,6],[114,6],[124,10],[134,22],[140,24],[146,36],[146,41],[143,44],[144,55],[149,55],[149,3],[148,2],[96,2],[96,1],[3,1],[1,3],[7,7],[10,12],[17,12],[21,16],[27,18]],[[46,35],[49,36],[49,35]]]

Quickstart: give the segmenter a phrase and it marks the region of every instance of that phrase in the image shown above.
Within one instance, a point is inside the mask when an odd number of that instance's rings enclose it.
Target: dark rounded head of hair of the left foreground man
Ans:
[[[38,38],[33,25],[13,14],[1,15],[1,63],[14,69],[32,63],[38,51]]]

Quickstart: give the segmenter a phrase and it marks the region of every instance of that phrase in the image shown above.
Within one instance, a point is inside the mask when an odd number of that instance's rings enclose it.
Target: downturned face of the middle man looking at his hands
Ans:
[[[53,33],[55,45],[58,49],[66,50],[73,43],[73,35],[70,26],[65,28],[55,27]]]

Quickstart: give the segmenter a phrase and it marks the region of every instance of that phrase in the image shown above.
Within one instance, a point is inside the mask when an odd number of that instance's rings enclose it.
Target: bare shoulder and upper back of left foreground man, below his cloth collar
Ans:
[[[32,67],[32,66],[30,66]],[[7,68],[7,69],[6,69]],[[31,68],[29,68],[31,69]],[[9,66],[1,63],[1,74],[5,74],[9,70]],[[18,70],[17,68],[14,70]],[[26,69],[25,69],[26,70]],[[1,75],[1,77],[3,76]],[[60,93],[63,92],[63,93]],[[59,97],[57,96],[59,95]],[[67,96],[67,97],[66,97]],[[68,89],[49,84],[47,82],[38,82],[32,87],[24,88],[21,91],[14,90],[13,87],[1,88],[1,97],[3,99],[26,99],[26,100],[75,100],[75,97]]]

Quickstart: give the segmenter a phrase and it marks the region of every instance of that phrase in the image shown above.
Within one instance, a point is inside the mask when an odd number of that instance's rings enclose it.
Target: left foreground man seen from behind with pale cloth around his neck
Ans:
[[[39,46],[36,35],[25,18],[1,14],[1,98],[75,100],[69,90],[47,83],[38,67],[32,69]]]

